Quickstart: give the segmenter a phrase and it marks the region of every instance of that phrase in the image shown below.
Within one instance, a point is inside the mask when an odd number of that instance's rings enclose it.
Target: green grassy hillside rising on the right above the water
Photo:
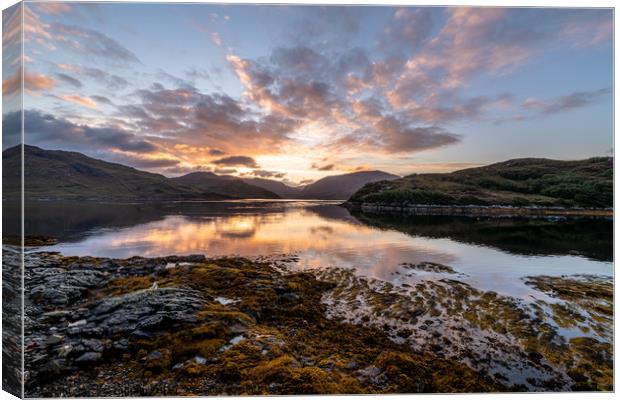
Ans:
[[[363,203],[613,207],[613,158],[524,158],[447,174],[413,174],[365,185]]]

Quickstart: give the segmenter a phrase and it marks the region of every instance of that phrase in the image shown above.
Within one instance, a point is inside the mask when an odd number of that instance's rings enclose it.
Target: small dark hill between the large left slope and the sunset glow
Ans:
[[[240,178],[227,175],[216,175],[212,172],[192,172],[172,182],[222,196],[252,199],[279,199],[280,196],[262,187],[251,185]]]

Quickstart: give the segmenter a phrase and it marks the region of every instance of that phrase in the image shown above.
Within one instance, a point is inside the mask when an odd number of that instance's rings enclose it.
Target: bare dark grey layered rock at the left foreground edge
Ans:
[[[156,276],[171,257],[154,262],[134,258],[122,263],[55,253],[26,254],[25,370],[38,384],[79,371],[126,351],[131,339],[149,338],[196,322],[203,297],[185,288],[148,288],[98,299],[110,281],[127,276]]]

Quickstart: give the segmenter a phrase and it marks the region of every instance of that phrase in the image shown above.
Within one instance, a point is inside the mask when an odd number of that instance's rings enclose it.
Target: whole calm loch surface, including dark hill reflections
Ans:
[[[36,203],[26,215],[27,234],[58,237],[45,250],[65,255],[287,253],[299,268],[354,268],[393,282],[421,278],[406,276],[402,263],[432,261],[478,288],[521,298],[533,294],[521,279],[528,275],[613,274],[611,221],[353,216],[338,202],[273,200]]]

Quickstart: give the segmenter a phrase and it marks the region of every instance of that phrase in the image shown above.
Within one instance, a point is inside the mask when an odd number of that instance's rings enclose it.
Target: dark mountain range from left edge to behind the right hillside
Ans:
[[[21,147],[2,152],[3,196],[20,193]],[[238,178],[193,172],[176,178],[97,160],[77,152],[24,146],[27,199],[47,200],[224,200],[338,199],[346,200],[366,183],[399,178],[381,171],[329,176],[312,184],[291,187],[262,178]]]

